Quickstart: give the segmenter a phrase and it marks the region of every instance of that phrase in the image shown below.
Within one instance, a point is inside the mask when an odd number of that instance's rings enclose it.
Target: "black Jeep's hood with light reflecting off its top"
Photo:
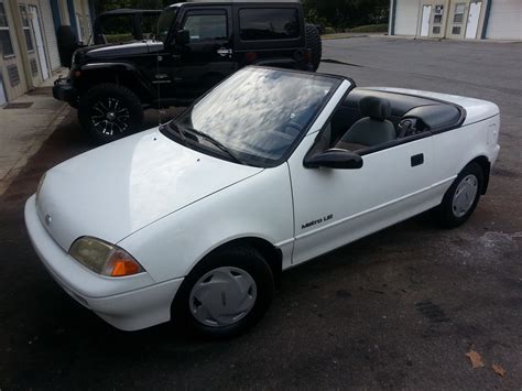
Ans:
[[[137,41],[121,44],[97,45],[79,50],[86,59],[127,57],[156,53],[163,48],[159,41]]]

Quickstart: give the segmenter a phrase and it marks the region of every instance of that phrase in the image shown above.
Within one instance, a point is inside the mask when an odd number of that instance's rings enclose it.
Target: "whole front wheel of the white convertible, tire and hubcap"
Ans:
[[[213,281],[221,283],[207,285]],[[204,259],[185,278],[172,305],[172,319],[196,337],[235,337],[263,317],[273,293],[272,271],[258,251],[224,249]]]

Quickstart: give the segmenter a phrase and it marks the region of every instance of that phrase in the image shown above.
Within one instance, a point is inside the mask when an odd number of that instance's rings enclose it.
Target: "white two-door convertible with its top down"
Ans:
[[[232,336],[285,269],[424,210],[464,222],[499,124],[483,100],[248,67],[50,170],[25,222],[56,282],[111,325]]]

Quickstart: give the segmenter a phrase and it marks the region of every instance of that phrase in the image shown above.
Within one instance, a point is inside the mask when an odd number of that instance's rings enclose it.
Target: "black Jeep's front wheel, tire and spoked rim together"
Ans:
[[[95,142],[105,144],[141,130],[143,107],[129,88],[106,83],[79,98],[78,119]]]

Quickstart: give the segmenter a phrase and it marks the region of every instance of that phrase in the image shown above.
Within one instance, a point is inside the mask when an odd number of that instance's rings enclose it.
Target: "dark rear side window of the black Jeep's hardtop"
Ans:
[[[241,41],[293,40],[300,36],[296,9],[242,9],[239,11]]]

